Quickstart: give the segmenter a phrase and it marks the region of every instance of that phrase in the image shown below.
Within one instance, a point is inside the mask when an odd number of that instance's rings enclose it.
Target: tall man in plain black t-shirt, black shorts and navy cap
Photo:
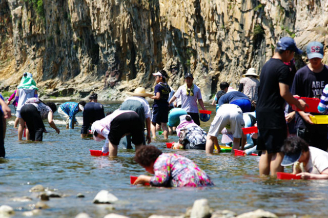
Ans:
[[[296,105],[304,110],[306,104],[297,101],[289,91],[290,70],[283,62],[290,62],[294,53],[302,53],[294,39],[283,37],[279,40],[273,57],[264,64],[260,75],[259,98],[256,105],[258,121],[257,150],[262,150],[259,162],[260,175],[276,175],[282,172],[280,165],[283,153],[280,148],[287,137],[284,103]]]

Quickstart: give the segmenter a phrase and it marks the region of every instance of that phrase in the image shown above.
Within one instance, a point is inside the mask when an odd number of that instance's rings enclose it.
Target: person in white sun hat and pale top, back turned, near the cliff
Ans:
[[[247,95],[252,103],[251,111],[255,111],[256,102],[258,99],[258,87],[260,82],[258,81],[259,75],[257,75],[254,68],[247,70],[247,73],[242,75],[242,79],[239,82],[238,91],[243,92]]]

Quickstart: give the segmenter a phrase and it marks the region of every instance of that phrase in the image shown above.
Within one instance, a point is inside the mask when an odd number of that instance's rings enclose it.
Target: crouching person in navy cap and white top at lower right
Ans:
[[[301,179],[328,179],[328,153],[309,146],[300,137],[288,137],[281,151],[285,154],[281,166],[293,166],[293,174]]]

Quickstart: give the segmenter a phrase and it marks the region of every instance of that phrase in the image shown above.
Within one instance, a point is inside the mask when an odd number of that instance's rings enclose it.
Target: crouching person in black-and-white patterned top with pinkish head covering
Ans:
[[[183,149],[205,150],[206,132],[194,123],[190,115],[180,116],[180,124],[176,132],[179,136],[179,143],[176,143],[173,149],[183,147]]]

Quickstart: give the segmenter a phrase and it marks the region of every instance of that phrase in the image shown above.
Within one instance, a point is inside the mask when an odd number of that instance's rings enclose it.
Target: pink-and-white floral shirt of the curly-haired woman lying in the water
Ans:
[[[162,153],[154,163],[152,186],[197,187],[214,185],[211,178],[193,161],[178,154]]]

